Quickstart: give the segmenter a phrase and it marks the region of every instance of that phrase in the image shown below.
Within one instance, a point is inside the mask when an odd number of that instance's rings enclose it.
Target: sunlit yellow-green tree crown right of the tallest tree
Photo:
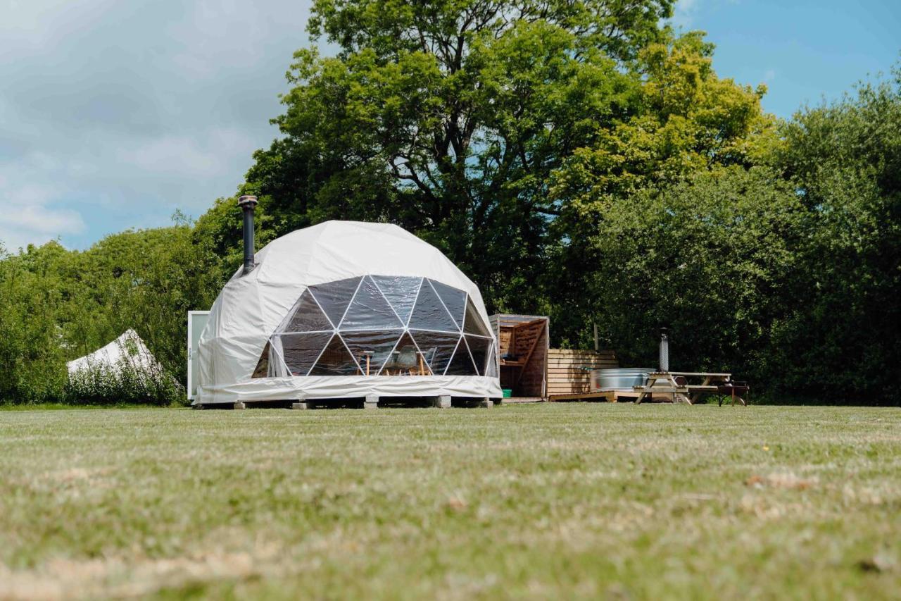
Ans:
[[[720,166],[766,164],[778,138],[775,120],[760,108],[765,90],[717,78],[712,52],[700,32],[669,34],[643,49],[635,67],[641,109],[554,171],[550,191],[561,214],[553,230],[572,258],[596,257],[587,240],[605,211],[614,204],[628,210],[641,190]]]

